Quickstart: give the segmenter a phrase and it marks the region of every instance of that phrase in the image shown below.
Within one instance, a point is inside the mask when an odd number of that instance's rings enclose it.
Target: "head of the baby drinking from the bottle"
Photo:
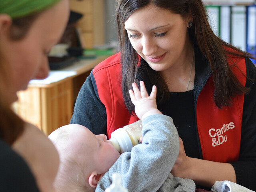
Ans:
[[[94,191],[100,178],[120,156],[106,135],[94,135],[82,125],[62,126],[48,138],[60,155],[54,182],[57,191]]]

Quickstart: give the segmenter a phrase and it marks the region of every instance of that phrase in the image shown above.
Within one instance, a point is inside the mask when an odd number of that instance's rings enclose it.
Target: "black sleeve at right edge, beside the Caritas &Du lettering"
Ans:
[[[256,67],[246,59],[246,87],[249,94],[244,96],[240,156],[231,163],[236,172],[236,182],[256,191]]]

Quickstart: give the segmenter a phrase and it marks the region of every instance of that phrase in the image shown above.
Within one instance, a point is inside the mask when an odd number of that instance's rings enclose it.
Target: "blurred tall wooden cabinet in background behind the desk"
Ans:
[[[104,44],[104,0],[70,0],[70,9],[83,14],[76,24],[83,48]]]

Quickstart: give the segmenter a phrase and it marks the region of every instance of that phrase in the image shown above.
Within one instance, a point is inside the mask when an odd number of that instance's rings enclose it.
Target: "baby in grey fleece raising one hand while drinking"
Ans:
[[[119,154],[106,140],[86,127],[70,124],[58,128],[49,138],[60,154],[60,169],[54,182],[58,192],[103,192],[119,172],[122,184],[130,192],[195,191],[192,180],[170,174],[179,153],[179,138],[172,118],[156,105],[156,86],[148,96],[144,82],[130,90],[135,112],[142,120],[142,144],[131,152]]]

